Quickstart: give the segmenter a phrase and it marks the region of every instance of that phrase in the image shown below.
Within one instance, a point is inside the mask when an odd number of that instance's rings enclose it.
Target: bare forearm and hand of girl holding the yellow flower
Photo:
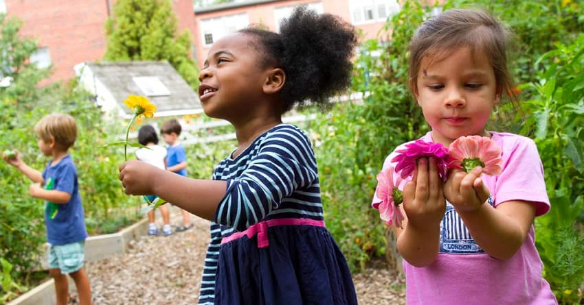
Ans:
[[[187,178],[140,161],[122,164],[120,180],[126,194],[156,194],[167,202],[210,221],[215,221],[217,206],[227,191],[225,181]]]

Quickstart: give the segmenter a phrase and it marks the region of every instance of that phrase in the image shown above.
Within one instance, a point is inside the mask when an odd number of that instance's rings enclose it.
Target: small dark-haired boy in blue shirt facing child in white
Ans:
[[[171,119],[162,123],[160,132],[164,142],[168,144],[168,155],[166,155],[166,170],[178,173],[186,177],[187,175],[187,154],[185,147],[181,144],[181,123],[176,119]],[[183,225],[177,228],[177,232],[183,232],[192,228],[190,223],[190,212],[181,209],[183,215]]]

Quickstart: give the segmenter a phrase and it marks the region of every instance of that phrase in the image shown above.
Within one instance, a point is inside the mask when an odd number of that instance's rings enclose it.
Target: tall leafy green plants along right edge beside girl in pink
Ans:
[[[552,208],[536,219],[545,277],[563,304],[582,300],[584,235],[584,34],[557,44],[535,64],[544,68],[526,84],[535,96],[525,102],[524,133],[532,134],[546,170]],[[522,119],[522,118],[517,118]]]

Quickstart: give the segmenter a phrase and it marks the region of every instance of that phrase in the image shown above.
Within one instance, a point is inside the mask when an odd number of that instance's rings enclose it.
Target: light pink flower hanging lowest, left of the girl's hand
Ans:
[[[403,215],[398,207],[403,202],[403,193],[398,189],[401,178],[393,179],[394,168],[388,167],[385,171],[377,174],[377,191],[375,195],[381,202],[374,202],[373,207],[379,210],[379,217],[388,225],[401,227]]]

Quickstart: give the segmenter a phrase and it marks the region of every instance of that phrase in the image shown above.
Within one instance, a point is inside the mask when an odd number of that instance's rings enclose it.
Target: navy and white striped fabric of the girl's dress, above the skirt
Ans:
[[[225,158],[213,180],[227,181],[227,191],[217,208],[217,223],[211,224],[199,304],[214,304],[222,238],[268,219],[323,220],[315,156],[296,126],[277,125],[236,158]]]

